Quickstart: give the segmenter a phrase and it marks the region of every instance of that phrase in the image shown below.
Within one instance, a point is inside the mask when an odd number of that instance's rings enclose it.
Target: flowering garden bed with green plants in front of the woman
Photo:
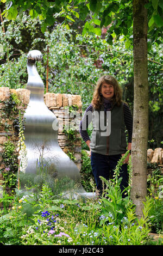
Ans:
[[[118,163],[119,166],[123,160]],[[26,180],[26,185],[29,184],[26,190],[16,190],[15,196],[9,197],[4,193],[1,199],[4,208],[0,214],[0,243],[161,245],[161,235],[155,242],[148,235],[155,222],[161,224],[161,215],[156,214],[161,198],[156,197],[156,193],[148,197],[144,203],[143,217],[138,220],[135,206],[129,199],[128,188],[127,197],[122,198],[118,172],[119,168],[116,168],[114,179],[109,182],[103,180],[107,186],[102,198],[95,196],[89,199],[80,197],[78,193],[76,199],[67,198],[67,185],[72,194],[75,192],[72,181],[66,177],[52,181],[47,179],[45,173],[41,183],[32,184]],[[11,208],[8,208],[9,202]]]

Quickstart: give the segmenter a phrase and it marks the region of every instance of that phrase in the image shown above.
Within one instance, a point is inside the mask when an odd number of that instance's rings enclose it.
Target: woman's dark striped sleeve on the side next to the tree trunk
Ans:
[[[127,131],[128,131],[128,142],[132,141],[132,135],[133,135],[133,117],[130,111],[129,106],[124,103],[123,108],[124,113],[124,123],[126,125]]]

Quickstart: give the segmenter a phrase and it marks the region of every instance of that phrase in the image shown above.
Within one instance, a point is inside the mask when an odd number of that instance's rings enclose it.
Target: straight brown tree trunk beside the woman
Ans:
[[[142,216],[147,196],[147,143],[148,143],[148,61],[147,61],[147,0],[133,0],[134,38],[134,123],[131,164],[131,200],[136,215]]]

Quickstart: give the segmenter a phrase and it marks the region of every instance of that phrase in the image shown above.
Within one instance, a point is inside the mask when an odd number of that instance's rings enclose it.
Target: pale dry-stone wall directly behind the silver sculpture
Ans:
[[[16,94],[18,99],[21,101],[17,103],[15,109],[12,109],[12,113],[8,113],[8,105],[11,105],[11,94]],[[17,146],[18,142],[18,132],[15,130],[14,121],[18,118],[18,111],[21,113],[26,110],[27,105],[29,103],[30,91],[27,89],[9,89],[7,87],[0,88],[0,185],[3,171],[7,166],[5,166],[3,162],[2,154],[4,152],[4,143],[8,140],[14,142],[15,146]],[[10,100],[10,102],[9,102]],[[72,121],[72,117],[70,118],[68,115],[68,108],[72,108],[73,106],[77,106],[77,112],[82,114],[82,101],[80,95],[70,95],[70,94],[54,94],[54,93],[46,93],[44,95],[44,101],[46,106],[55,114],[59,121],[59,130],[58,130],[58,142],[62,150],[66,154],[70,151],[73,153],[74,162],[76,163],[78,169],[81,169],[81,154],[82,154],[82,146],[81,146],[81,138],[79,131],[76,131],[76,140],[70,141],[68,137],[63,132],[63,127],[60,124],[68,124]],[[10,106],[12,108],[12,106]],[[67,108],[65,112],[65,107]],[[71,120],[70,120],[71,119]],[[15,152],[15,155],[18,153]]]

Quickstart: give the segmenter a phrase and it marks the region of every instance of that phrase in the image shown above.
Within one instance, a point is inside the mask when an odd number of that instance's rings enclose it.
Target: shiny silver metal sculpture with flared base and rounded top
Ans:
[[[58,120],[45,105],[44,85],[36,70],[35,62],[42,59],[42,54],[33,50],[28,53],[27,58],[27,89],[30,90],[30,101],[24,113],[24,136],[28,158],[26,174],[37,174],[39,164],[47,164],[48,174],[58,178],[67,176],[79,184],[77,192],[80,195],[94,197],[95,194],[85,192],[80,184],[80,173],[76,164],[59,146]]]

